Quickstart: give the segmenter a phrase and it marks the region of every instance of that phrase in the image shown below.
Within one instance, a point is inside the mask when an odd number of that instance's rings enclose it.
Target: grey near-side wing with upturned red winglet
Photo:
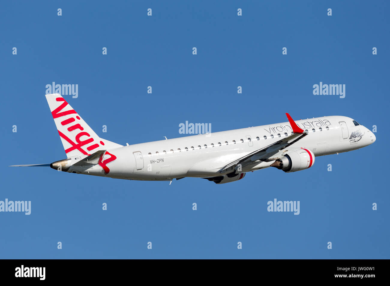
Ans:
[[[291,146],[298,140],[301,140],[303,137],[305,137],[308,133],[306,133],[303,129],[299,128],[298,125],[296,125],[296,123],[288,113],[286,113],[286,115],[287,118],[289,119],[291,128],[293,129],[293,133],[291,135],[284,137],[283,139],[280,139],[277,142],[269,144],[266,147],[258,149],[252,153],[249,153],[229,163],[228,165],[224,166],[219,172],[220,173],[235,172],[236,167],[238,165],[241,165],[241,167],[245,167],[246,165],[250,165],[257,160],[271,161],[272,160],[271,156],[279,153],[281,150]]]

